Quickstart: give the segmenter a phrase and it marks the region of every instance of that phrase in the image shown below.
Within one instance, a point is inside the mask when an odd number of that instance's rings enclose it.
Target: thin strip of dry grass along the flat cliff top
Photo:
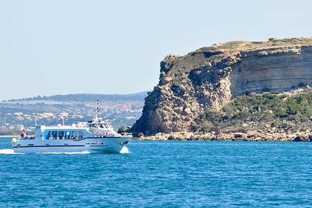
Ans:
[[[286,38],[276,39],[269,38],[268,41],[261,42],[249,42],[249,41],[232,41],[214,44],[209,49],[214,50],[254,50],[254,49],[265,49],[268,47],[279,47],[279,46],[300,46],[300,45],[312,45],[312,37],[304,38]]]

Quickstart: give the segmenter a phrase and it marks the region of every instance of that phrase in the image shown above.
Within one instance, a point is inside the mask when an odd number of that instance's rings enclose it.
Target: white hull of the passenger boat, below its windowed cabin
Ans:
[[[89,137],[80,140],[18,139],[13,144],[15,153],[120,153],[131,137]]]

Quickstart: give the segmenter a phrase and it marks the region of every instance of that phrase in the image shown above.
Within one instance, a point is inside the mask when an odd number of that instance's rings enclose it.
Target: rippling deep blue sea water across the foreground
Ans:
[[[125,154],[12,154],[0,207],[312,207],[312,143],[133,141]]]

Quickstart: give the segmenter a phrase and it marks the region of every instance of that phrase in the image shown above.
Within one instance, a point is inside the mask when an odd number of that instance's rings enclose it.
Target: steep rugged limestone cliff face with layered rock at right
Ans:
[[[219,110],[239,94],[311,84],[312,38],[227,42],[168,55],[132,132],[187,131],[207,107]]]

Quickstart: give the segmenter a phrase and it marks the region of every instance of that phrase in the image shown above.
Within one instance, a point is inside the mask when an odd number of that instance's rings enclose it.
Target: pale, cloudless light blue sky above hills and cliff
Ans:
[[[168,54],[312,37],[311,8],[303,0],[0,0],[0,100],[151,90]]]

